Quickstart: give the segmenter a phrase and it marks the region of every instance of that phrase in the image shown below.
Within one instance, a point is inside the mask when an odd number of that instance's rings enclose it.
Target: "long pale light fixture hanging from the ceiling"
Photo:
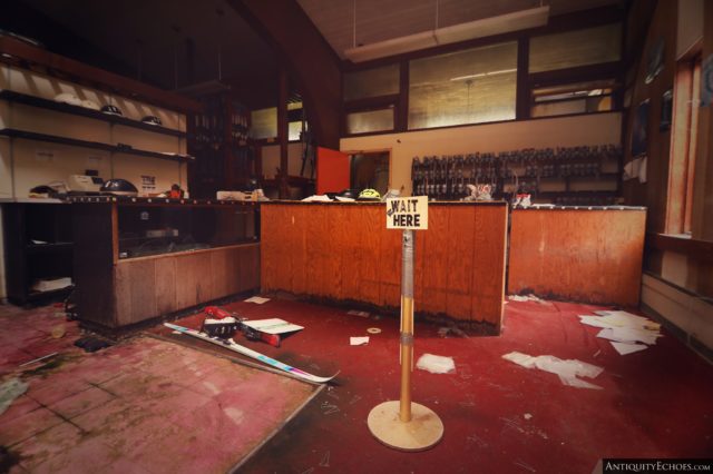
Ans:
[[[345,50],[344,56],[352,62],[363,62],[439,45],[450,45],[476,38],[541,27],[547,24],[548,17],[549,6],[537,7],[500,14],[498,17],[469,21],[467,23],[437,28],[406,37],[388,39],[371,45],[353,47]]]

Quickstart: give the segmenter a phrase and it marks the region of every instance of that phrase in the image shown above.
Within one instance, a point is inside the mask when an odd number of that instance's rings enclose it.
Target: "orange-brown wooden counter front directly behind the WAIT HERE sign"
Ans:
[[[383,204],[267,203],[261,206],[261,285],[339,302],[398,308],[401,235]],[[416,312],[487,323],[499,332],[507,206],[430,204],[416,231]]]

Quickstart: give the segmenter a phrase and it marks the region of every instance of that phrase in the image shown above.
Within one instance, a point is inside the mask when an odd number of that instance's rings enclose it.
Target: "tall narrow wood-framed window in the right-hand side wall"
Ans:
[[[701,97],[701,56],[676,67],[666,233],[691,234]]]

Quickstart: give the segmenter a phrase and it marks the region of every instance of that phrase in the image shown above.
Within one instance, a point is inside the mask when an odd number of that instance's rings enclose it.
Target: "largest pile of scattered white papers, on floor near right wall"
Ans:
[[[597,337],[608,339],[622,355],[644,350],[662,337],[661,325],[645,317],[627,312],[595,312],[595,314],[580,315],[579,322],[602,328]]]

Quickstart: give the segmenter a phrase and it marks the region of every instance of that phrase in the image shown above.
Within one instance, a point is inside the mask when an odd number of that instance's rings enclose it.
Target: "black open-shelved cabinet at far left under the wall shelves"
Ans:
[[[17,305],[66,296],[71,286],[39,292],[41,279],[72,278],[71,206],[57,199],[2,204],[8,299]]]

